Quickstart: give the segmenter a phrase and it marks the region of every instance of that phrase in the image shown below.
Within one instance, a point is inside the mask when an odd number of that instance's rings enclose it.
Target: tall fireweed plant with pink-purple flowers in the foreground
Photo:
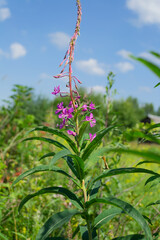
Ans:
[[[57,232],[58,229],[62,228],[62,226],[69,222],[73,217],[74,219],[78,219],[75,221],[76,223],[78,221],[79,224],[72,235],[72,239],[74,239],[76,235],[79,236],[79,239],[100,239],[98,236],[98,229],[117,215],[123,214],[127,214],[136,220],[140,225],[142,232],[141,234],[136,233],[133,235],[121,236],[120,238],[115,239],[143,238],[146,240],[151,240],[152,234],[148,223],[140,214],[140,212],[137,211],[131,204],[114,196],[108,195],[107,197],[104,197],[103,192],[101,192],[101,197],[98,197],[98,191],[102,187],[101,181],[108,177],[129,173],[148,173],[153,176],[157,176],[157,174],[153,171],[143,168],[105,168],[107,164],[105,163],[106,158],[104,154],[108,153],[109,150],[107,152],[107,148],[100,147],[100,144],[102,143],[103,137],[117,126],[109,126],[94,134],[89,133],[88,137],[86,137],[86,128],[94,128],[96,124],[96,119],[94,118],[94,110],[96,107],[93,102],[90,102],[89,104],[81,102],[81,96],[78,94],[77,86],[77,83],[81,82],[72,74],[74,48],[77,36],[79,35],[81,22],[81,3],[80,0],[77,0],[76,2],[78,14],[75,32],[71,38],[69,49],[65,54],[64,60],[60,64],[60,66],[64,64],[64,67],[60,74],[54,76],[56,79],[66,76],[69,78],[69,82],[67,84],[69,93],[61,92],[59,85],[55,86],[52,92],[53,95],[60,95],[62,97],[62,102],[57,105],[57,110],[55,112],[61,122],[56,129],[41,126],[30,131],[48,132],[52,135],[52,138],[30,137],[24,140],[45,141],[48,144],[56,146],[59,151],[56,153],[50,152],[42,156],[40,160],[43,160],[47,157],[52,157],[48,165],[39,165],[24,172],[13,183],[14,185],[25,177],[37,172],[51,171],[64,175],[69,179],[70,184],[68,188],[61,186],[50,186],[43,188],[38,192],[27,195],[21,201],[19,205],[19,211],[22,209],[25,203],[35,196],[46,193],[54,194],[54,197],[55,194],[57,194],[57,197],[58,195],[63,195],[65,198],[69,199],[71,203],[70,207],[64,211],[54,213],[39,230],[36,240],[66,239],[64,237],[54,236],[54,230]],[[67,66],[69,67],[69,71],[65,72]],[[74,88],[72,84],[74,84]],[[68,106],[64,106],[63,97],[70,98]],[[58,140],[57,138],[55,139],[55,137],[58,137]],[[65,144],[62,143],[62,140],[65,142]],[[93,161],[93,164],[95,164],[99,161],[100,157],[104,160],[104,170],[100,174],[89,176],[88,162]],[[56,163],[59,159],[63,159],[67,163],[68,172],[56,166]],[[103,204],[103,210],[101,212],[97,211],[96,216],[92,214],[92,206],[94,204]],[[107,239],[108,233],[106,232],[105,234]]]

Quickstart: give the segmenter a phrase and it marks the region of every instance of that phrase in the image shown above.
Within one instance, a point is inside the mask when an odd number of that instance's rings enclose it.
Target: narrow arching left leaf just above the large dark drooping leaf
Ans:
[[[60,174],[63,174],[69,178],[72,179],[72,181],[74,183],[76,183],[78,186],[79,184],[77,183],[77,181],[72,177],[70,176],[68,173],[66,173],[65,171],[63,171],[61,168],[59,167],[56,167],[56,166],[53,166],[52,168],[49,167],[49,165],[40,165],[40,166],[37,166],[37,167],[34,167],[24,173],[22,173],[21,175],[19,175],[16,180],[13,182],[12,186],[14,186],[16,183],[18,183],[20,180],[24,179],[25,177],[29,176],[29,175],[32,175],[34,173],[38,173],[38,172],[46,172],[46,171],[52,171],[52,172],[57,172],[57,173],[60,173]]]

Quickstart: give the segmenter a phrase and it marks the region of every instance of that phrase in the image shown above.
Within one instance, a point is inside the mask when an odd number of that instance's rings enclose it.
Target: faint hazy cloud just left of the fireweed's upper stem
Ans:
[[[51,33],[49,34],[49,38],[51,43],[59,49],[67,48],[70,42],[70,36],[64,32]]]

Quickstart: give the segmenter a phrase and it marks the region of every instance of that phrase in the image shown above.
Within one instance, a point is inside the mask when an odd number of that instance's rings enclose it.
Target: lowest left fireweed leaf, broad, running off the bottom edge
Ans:
[[[59,212],[50,217],[43,227],[39,230],[36,240],[46,240],[46,238],[57,228],[62,227],[65,223],[76,214],[80,214],[76,209],[69,209]]]

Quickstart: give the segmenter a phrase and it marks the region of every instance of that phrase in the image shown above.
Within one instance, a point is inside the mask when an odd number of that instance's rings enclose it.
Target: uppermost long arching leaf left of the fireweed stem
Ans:
[[[72,150],[75,153],[78,153],[78,149],[75,145],[75,143],[66,135],[64,134],[62,131],[59,131],[58,129],[54,129],[54,128],[50,128],[50,127],[46,127],[46,126],[42,126],[42,127],[36,127],[33,128],[31,131],[29,132],[33,132],[33,131],[44,131],[44,132],[49,132],[52,133],[53,135],[56,135],[60,138],[63,138],[66,140],[66,142],[69,144],[69,146],[72,148]]]

